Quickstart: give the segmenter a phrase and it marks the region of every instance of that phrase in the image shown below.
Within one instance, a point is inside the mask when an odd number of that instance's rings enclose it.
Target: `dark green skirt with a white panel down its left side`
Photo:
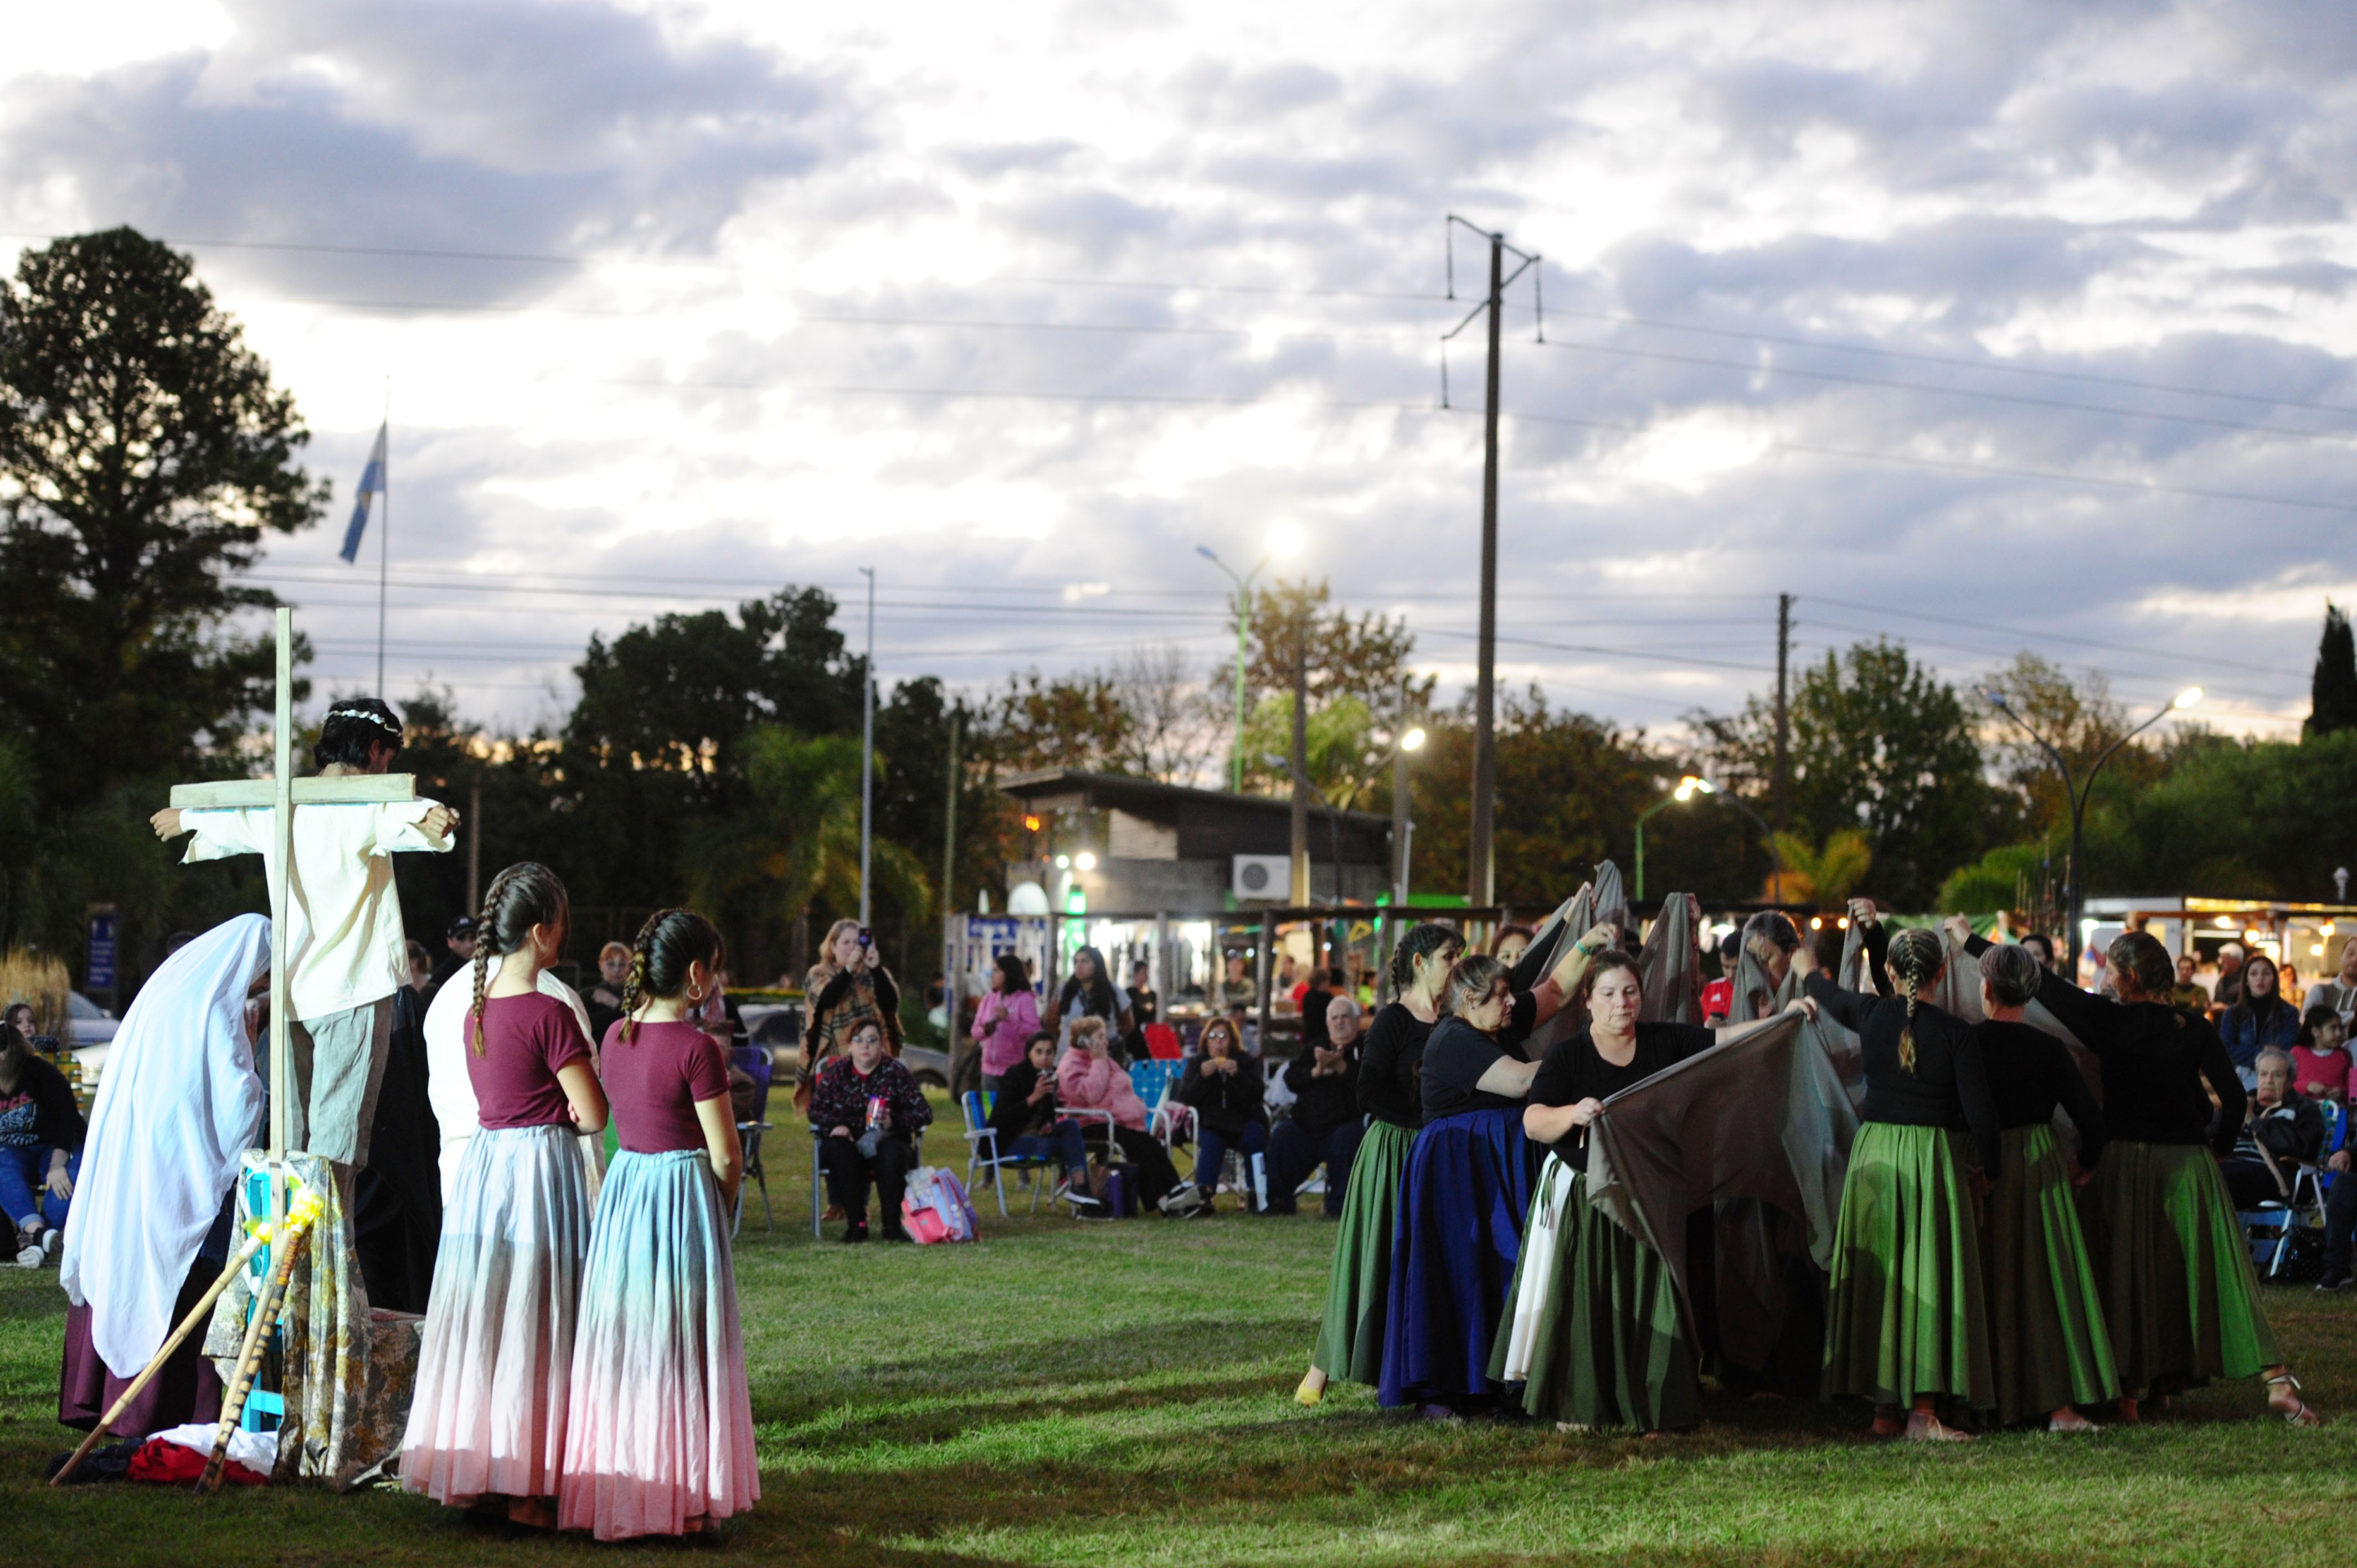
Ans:
[[[1702,1379],[1659,1252],[1589,1203],[1556,1155],[1539,1172],[1490,1377],[1574,1427],[1676,1431],[1702,1417]]]

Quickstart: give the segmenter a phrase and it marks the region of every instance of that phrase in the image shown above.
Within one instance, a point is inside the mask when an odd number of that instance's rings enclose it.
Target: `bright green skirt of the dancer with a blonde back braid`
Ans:
[[[1864,1122],[1850,1144],[1824,1304],[1824,1398],[1996,1408],[1963,1134]]]

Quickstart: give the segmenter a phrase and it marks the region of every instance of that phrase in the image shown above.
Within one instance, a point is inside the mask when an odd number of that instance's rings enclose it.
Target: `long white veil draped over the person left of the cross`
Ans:
[[[245,993],[269,967],[271,922],[238,915],[167,957],[115,1030],[59,1266],[115,1377],[163,1349],[189,1264],[259,1137]]]

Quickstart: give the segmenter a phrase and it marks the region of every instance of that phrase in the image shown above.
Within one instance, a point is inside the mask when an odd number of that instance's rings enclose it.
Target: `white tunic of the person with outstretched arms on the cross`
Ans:
[[[288,1009],[325,1019],[379,1002],[408,981],[408,934],[394,891],[396,851],[448,851],[420,821],[429,799],[379,806],[295,806],[295,879],[288,884]],[[276,868],[269,806],[181,811],[196,837],[184,863],[262,856]]]

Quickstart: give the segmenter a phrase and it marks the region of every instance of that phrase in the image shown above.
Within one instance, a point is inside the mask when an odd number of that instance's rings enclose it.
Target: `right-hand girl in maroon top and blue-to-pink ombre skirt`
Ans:
[[[709,920],[660,910],[599,1049],[622,1148],[582,1271],[556,1507],[599,1540],[695,1535],[761,1497],[728,1257],[745,1151],[721,1047],[695,1021],[719,964]]]

